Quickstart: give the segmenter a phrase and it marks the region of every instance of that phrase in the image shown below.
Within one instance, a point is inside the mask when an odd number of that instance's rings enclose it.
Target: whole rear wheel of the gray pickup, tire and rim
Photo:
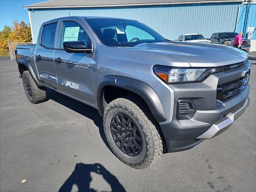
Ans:
[[[23,87],[31,103],[37,104],[46,100],[45,87],[38,87],[29,71],[24,71],[22,74]]]

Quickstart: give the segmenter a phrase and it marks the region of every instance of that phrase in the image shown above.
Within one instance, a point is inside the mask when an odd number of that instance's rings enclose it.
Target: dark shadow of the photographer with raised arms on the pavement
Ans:
[[[90,188],[90,182],[92,181],[91,172],[102,175],[106,182],[110,185],[112,192],[125,192],[124,187],[118,179],[112,175],[101,164],[76,164],[75,170],[69,176],[69,178],[60,187],[59,192],[71,192],[72,186],[76,184],[78,192],[96,192],[93,188]],[[104,190],[102,190],[104,191]]]

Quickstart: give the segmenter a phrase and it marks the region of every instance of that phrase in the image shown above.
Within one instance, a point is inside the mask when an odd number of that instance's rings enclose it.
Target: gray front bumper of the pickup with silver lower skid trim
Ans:
[[[249,104],[249,84],[221,106],[216,105],[216,92],[218,86],[240,79],[249,67],[250,62],[246,62],[244,66],[212,74],[204,82],[169,85],[174,92],[174,110],[170,121],[160,122],[168,152],[192,148],[204,139],[224,132],[244,112]],[[179,100],[190,100],[196,106],[191,119],[178,120]]]

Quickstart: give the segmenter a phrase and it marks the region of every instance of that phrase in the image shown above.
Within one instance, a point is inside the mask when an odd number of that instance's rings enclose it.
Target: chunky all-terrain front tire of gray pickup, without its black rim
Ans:
[[[138,120],[138,123],[141,125],[143,132],[146,135],[146,142],[148,144],[147,147],[147,154],[144,162],[138,165],[132,165],[127,162],[124,162],[112,149],[112,147],[108,144],[114,153],[114,155],[122,162],[127,164],[128,166],[131,166],[136,169],[144,169],[147,168],[148,166],[154,164],[162,155],[163,153],[163,143],[160,137],[160,134],[157,130],[157,122],[152,116],[148,106],[146,106],[145,102],[136,97],[132,96],[126,96],[123,98],[117,98],[110,102],[108,106],[104,110],[104,115],[103,115],[103,122],[105,122],[105,117],[111,108],[115,107],[121,107],[123,109],[126,109],[128,112],[133,114],[134,118]],[[104,124],[105,126],[105,124]],[[105,131],[105,127],[104,127]],[[106,132],[105,132],[106,134]],[[108,140],[108,138],[107,138]]]

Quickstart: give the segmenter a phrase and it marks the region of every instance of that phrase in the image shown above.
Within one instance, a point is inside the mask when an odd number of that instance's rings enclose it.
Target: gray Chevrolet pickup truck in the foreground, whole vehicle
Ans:
[[[45,22],[16,60],[30,102],[50,88],[98,109],[112,152],[138,169],[224,132],[249,104],[246,52],[172,42],[135,20]]]

